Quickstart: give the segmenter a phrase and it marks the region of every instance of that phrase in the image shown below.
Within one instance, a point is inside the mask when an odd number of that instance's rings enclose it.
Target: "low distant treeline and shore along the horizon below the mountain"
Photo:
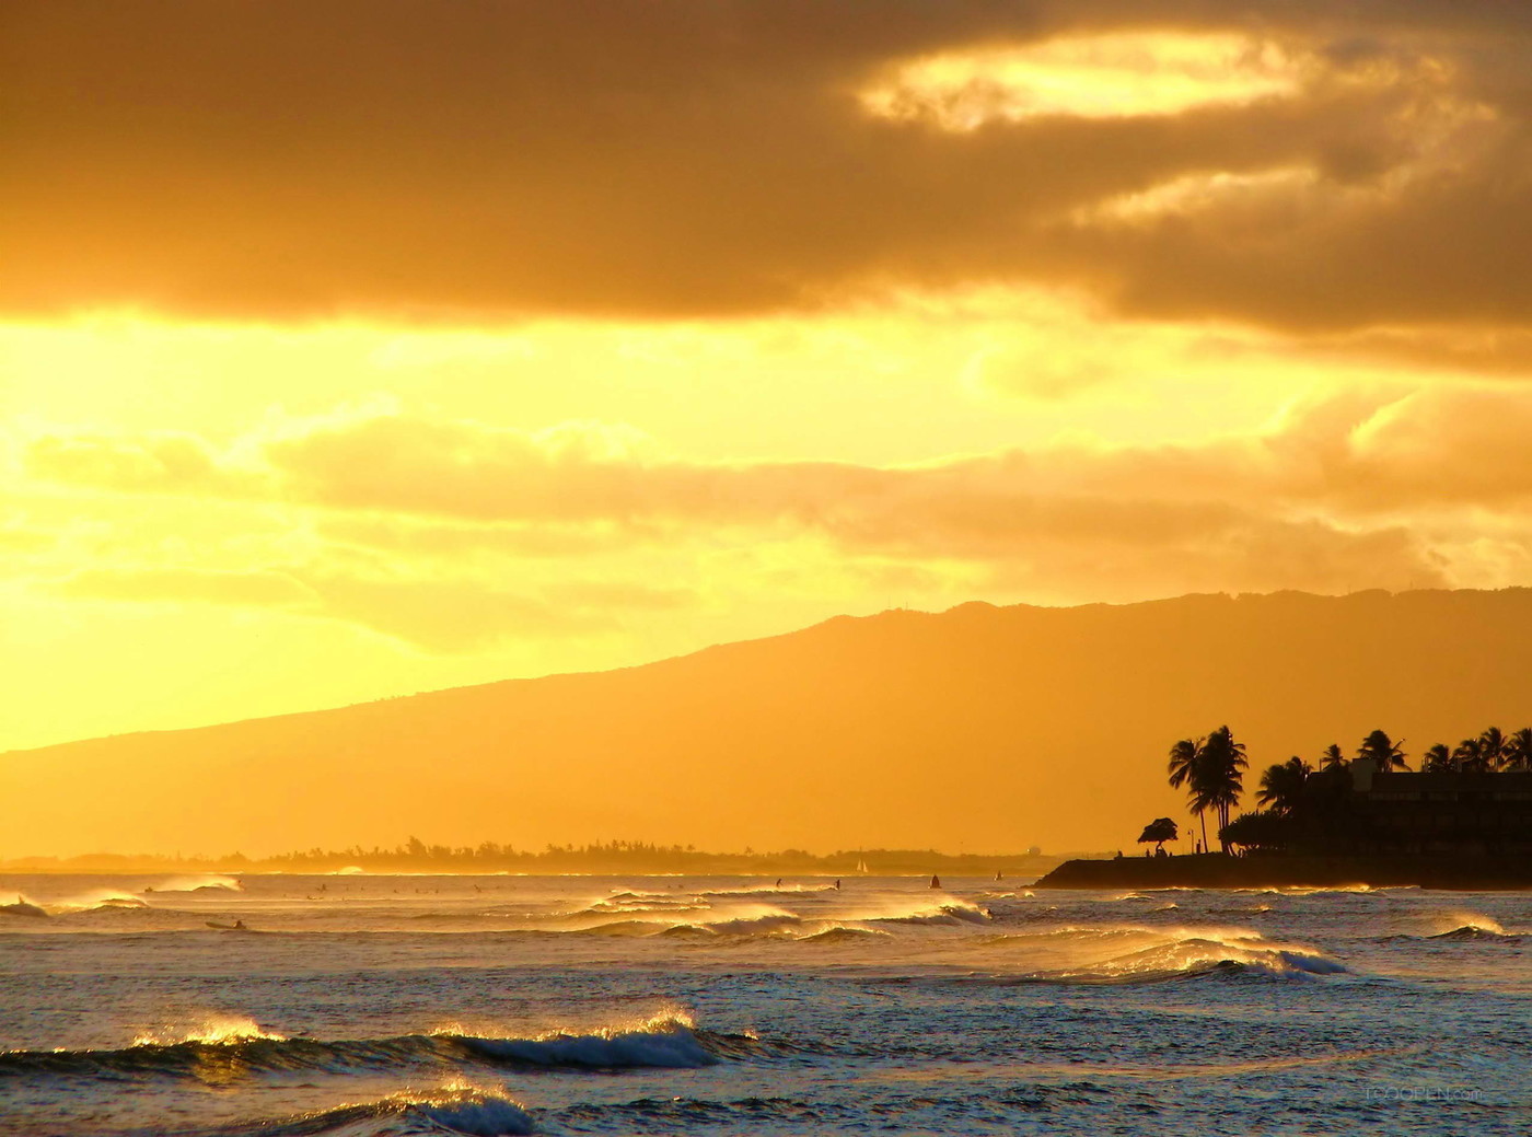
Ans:
[[[1088,854],[1086,854],[1088,855]],[[124,854],[86,854],[83,857],[26,857],[0,861],[6,872],[291,872],[332,873],[346,869],[363,872],[519,872],[519,873],[691,873],[757,877],[853,877],[951,873],[953,877],[993,877],[994,873],[1036,877],[1063,861],[1039,849],[1019,854],[944,854],[933,849],[847,849],[810,854],[804,849],[778,852],[703,852],[694,846],[651,844],[647,841],[608,841],[596,844],[550,844],[541,852],[484,841],[478,846],[426,844],[411,837],[392,849],[308,849],[253,858],[234,852],[224,857],[153,857]]]

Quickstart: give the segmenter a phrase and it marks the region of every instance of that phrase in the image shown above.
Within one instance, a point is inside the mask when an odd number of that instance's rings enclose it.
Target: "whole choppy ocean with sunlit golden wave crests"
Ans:
[[[1532,893],[0,877],[0,1132],[1532,1132]]]

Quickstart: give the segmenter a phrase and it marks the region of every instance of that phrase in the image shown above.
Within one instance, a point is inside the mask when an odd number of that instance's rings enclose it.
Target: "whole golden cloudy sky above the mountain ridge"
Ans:
[[[1532,6],[6,0],[0,749],[1532,584]]]

